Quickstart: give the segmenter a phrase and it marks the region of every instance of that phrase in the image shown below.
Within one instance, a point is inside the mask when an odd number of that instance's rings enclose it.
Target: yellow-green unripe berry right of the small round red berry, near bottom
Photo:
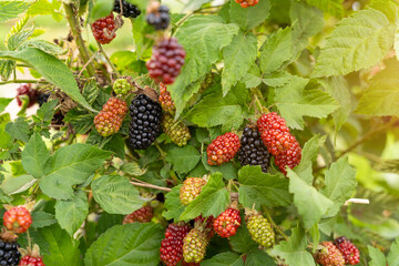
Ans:
[[[263,247],[272,247],[275,243],[275,233],[267,218],[259,213],[246,216],[246,218],[252,238]]]

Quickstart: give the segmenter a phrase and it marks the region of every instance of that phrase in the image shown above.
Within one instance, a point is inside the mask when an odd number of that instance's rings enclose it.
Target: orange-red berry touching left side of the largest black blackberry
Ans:
[[[94,125],[99,134],[109,136],[115,134],[127,112],[126,103],[117,98],[110,98],[101,112],[94,117]]]

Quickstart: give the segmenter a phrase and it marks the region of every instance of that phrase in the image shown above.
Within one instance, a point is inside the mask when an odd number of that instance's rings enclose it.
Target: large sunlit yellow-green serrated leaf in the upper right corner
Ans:
[[[313,76],[348,74],[377,64],[392,48],[393,35],[395,27],[380,11],[355,12],[327,38]]]

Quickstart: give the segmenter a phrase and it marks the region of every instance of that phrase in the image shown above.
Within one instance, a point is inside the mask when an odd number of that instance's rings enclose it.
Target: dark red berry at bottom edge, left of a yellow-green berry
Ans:
[[[166,266],[175,266],[183,258],[183,239],[190,226],[185,223],[170,224],[161,243],[161,259]]]

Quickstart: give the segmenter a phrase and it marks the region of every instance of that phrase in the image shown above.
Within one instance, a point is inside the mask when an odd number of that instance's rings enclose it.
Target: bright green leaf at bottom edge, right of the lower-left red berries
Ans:
[[[45,265],[82,265],[79,245],[74,245],[72,238],[58,224],[42,228],[40,235],[45,243],[40,246]]]

